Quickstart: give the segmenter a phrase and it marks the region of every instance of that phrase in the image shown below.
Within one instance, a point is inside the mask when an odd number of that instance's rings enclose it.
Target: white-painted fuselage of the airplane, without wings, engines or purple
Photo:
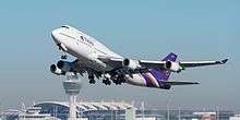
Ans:
[[[105,72],[115,69],[100,61],[98,58],[123,59],[123,57],[115,53],[95,38],[71,26],[57,28],[52,31],[51,35],[55,43],[60,45],[64,51],[76,57],[82,65],[91,68],[94,71]],[[155,79],[152,79],[153,76],[151,74],[146,73],[145,77],[146,76],[148,77],[148,81],[152,81],[152,87],[159,87],[159,84]],[[147,86],[146,80],[140,73],[132,74],[132,77],[129,75],[125,75],[124,77],[127,83],[137,86]]]

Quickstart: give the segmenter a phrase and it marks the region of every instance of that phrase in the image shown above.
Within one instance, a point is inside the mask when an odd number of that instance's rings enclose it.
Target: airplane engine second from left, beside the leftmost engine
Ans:
[[[64,72],[73,72],[73,63],[72,62],[59,60],[57,62],[57,68],[59,68],[60,70],[62,70]]]

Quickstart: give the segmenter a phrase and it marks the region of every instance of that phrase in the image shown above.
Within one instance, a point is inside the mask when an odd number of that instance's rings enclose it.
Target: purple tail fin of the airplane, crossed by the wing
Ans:
[[[170,52],[166,58],[164,58],[161,61],[176,61],[177,55],[173,52]],[[167,81],[168,77],[171,74],[171,71],[169,70],[151,70],[152,75],[157,80],[157,81]]]

